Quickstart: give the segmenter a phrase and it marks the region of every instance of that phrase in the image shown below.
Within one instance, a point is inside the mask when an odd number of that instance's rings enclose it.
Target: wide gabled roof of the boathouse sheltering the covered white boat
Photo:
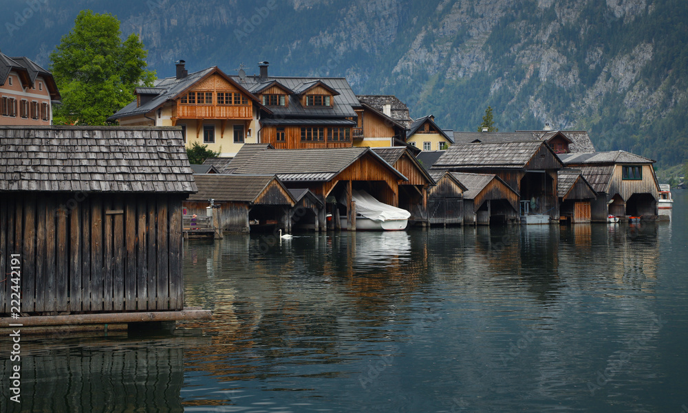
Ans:
[[[400,179],[407,179],[367,147],[260,150],[234,173],[266,173],[277,175],[282,181],[324,182],[330,181],[366,154],[376,157]]]

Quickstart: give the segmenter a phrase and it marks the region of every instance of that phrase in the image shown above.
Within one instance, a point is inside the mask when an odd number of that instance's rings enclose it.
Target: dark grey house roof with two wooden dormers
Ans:
[[[264,85],[266,80],[261,80],[259,76],[246,76],[243,79],[238,76],[230,76],[236,82],[246,87],[246,89],[253,90],[259,85]],[[327,85],[330,89],[337,92],[332,97],[332,107],[308,107],[308,109],[301,106],[299,96],[290,95],[289,104],[286,107],[270,107],[270,111],[275,115],[275,118],[352,118],[356,116],[353,107],[358,107],[358,99],[356,94],[351,89],[351,85],[346,78],[308,78],[308,77],[288,77],[288,76],[270,76],[268,81],[279,82],[280,85],[299,93],[315,84],[316,81]],[[267,118],[262,118],[261,122]]]

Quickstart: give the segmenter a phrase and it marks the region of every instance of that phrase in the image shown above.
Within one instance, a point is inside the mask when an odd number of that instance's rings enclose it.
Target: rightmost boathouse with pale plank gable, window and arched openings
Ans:
[[[652,159],[625,150],[559,157],[567,167],[580,169],[596,191],[598,196],[591,201],[592,221],[607,221],[608,214],[656,218],[659,183]]]

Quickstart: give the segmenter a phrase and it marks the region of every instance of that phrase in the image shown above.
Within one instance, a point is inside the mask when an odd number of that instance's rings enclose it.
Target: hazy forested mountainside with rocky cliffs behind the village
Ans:
[[[111,12],[140,36],[158,76],[174,61],[251,74],[346,76],[411,116],[473,131],[588,130],[601,150],[663,166],[688,159],[685,0],[0,1],[6,54],[47,56],[79,10]],[[29,12],[28,12],[29,11]]]

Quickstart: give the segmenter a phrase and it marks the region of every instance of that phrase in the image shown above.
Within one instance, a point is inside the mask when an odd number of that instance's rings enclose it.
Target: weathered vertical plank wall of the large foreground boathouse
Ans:
[[[180,310],[181,225],[180,197],[6,194],[0,269],[21,254],[23,313]]]

